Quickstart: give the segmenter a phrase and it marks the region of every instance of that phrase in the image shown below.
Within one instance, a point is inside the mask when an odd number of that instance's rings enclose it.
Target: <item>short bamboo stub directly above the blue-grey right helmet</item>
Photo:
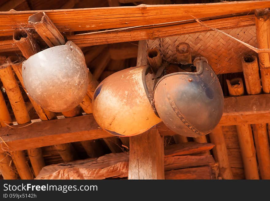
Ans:
[[[177,62],[191,64],[190,45],[188,43],[179,43],[176,46]]]

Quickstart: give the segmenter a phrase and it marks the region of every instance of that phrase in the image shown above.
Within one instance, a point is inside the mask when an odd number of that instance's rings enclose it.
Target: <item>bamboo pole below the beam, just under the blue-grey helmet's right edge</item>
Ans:
[[[222,126],[217,126],[210,134],[210,141],[215,145],[213,148],[214,158],[219,164],[219,176],[222,179],[233,179],[228,152],[225,144]]]

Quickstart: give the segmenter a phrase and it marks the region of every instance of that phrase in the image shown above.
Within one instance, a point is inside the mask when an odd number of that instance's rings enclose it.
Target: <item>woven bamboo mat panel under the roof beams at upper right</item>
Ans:
[[[257,47],[255,26],[223,31]],[[176,46],[181,42],[190,44],[193,59],[197,56],[206,57],[217,74],[242,72],[241,57],[249,54],[256,55],[256,52],[217,31],[148,40],[147,48],[156,47],[164,60],[176,62]]]

